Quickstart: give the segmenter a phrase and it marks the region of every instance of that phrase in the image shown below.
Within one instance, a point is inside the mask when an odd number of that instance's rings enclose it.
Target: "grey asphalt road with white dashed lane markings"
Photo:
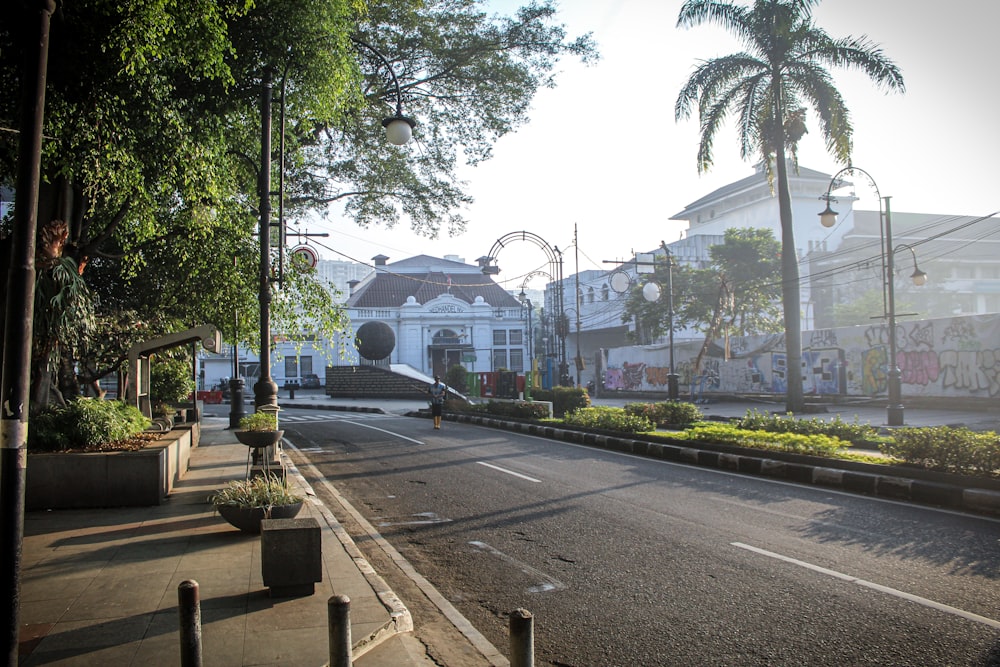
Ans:
[[[496,647],[530,610],[536,664],[1000,665],[998,521],[471,425],[282,425]]]

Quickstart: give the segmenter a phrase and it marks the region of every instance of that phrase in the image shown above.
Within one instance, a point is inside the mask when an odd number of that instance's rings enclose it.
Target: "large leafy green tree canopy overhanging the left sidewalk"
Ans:
[[[0,22],[0,84],[8,91],[19,88],[31,34],[21,29],[30,3],[12,5]],[[589,37],[568,40],[553,24],[548,2],[510,18],[489,17],[471,0],[362,7],[351,0],[60,6],[40,227],[65,222],[58,259],[89,288],[76,293],[93,296],[111,340],[128,342],[137,330],[126,320],[134,318],[144,337],[208,321],[229,340],[258,342],[253,234],[260,98],[269,83],[285,121],[273,169],[284,163],[289,217],[336,201],[362,226],[406,217],[433,236],[464,226],[453,213],[468,201],[455,173],[459,155],[487,159],[498,137],[527,120],[537,89],[553,85],[560,57],[596,57]],[[380,121],[396,102],[389,67],[406,113],[420,120],[410,147],[382,138]],[[18,115],[18,98],[0,96],[5,125]],[[276,135],[278,125],[276,118]],[[14,181],[15,150],[16,142],[0,142],[0,183]],[[335,339],[346,326],[335,295],[314,273],[284,277],[274,328]],[[65,386],[76,383],[75,368],[99,376],[127,350],[112,350],[99,335],[72,347],[46,327],[36,331],[48,337],[38,348],[66,357]]]

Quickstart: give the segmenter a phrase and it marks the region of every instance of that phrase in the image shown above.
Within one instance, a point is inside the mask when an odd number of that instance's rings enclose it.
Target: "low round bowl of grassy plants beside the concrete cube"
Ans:
[[[233,480],[208,500],[233,527],[254,535],[264,519],[292,519],[302,509],[302,497],[291,493],[277,475]]]

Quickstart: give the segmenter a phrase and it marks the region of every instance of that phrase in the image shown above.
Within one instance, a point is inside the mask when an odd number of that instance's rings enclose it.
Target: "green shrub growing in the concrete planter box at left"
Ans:
[[[98,449],[142,433],[149,420],[121,401],[79,398],[33,416],[28,427],[28,447],[35,451]]]

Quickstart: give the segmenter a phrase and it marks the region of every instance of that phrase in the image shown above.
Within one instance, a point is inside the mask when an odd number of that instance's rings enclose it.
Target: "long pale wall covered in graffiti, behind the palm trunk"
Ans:
[[[992,397],[1000,394],[1000,315],[974,315],[804,331],[801,377],[807,395],[886,393],[889,336],[906,396]],[[674,344],[681,391],[783,394],[790,378],[782,335],[715,341],[694,368],[703,341]],[[670,350],[663,346],[604,350],[605,387],[666,391]]]

